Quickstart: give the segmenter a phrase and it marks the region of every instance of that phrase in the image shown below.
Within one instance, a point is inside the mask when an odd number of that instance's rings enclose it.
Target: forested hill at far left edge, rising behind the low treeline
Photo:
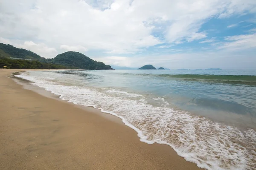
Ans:
[[[38,54],[23,48],[16,48],[9,44],[0,43],[0,57],[13,57],[20,59],[41,59]]]

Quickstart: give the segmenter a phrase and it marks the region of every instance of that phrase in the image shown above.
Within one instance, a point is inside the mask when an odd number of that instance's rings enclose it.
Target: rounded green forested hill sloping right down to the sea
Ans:
[[[65,65],[65,66],[74,66],[81,69],[88,70],[112,70],[110,65],[105,65],[103,62],[97,62],[89,57],[81,54],[79,52],[68,51],[62,54],[57,55],[52,59],[52,63]]]

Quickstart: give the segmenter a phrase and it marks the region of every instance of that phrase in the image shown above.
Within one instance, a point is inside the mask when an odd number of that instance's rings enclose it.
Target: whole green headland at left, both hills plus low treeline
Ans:
[[[68,51],[46,59],[32,51],[0,43],[0,68],[113,70],[79,52]]]

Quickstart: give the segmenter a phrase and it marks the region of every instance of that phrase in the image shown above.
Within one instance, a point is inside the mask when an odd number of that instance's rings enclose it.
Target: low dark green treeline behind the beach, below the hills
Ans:
[[[57,65],[39,62],[36,60],[9,59],[6,57],[0,57],[0,68],[3,68],[4,66],[12,69],[79,69],[79,67]]]

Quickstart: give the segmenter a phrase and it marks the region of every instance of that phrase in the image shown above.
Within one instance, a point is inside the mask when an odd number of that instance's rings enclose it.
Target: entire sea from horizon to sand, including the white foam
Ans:
[[[256,169],[255,70],[27,71],[17,77],[113,114],[142,142],[168,144],[198,167]]]

